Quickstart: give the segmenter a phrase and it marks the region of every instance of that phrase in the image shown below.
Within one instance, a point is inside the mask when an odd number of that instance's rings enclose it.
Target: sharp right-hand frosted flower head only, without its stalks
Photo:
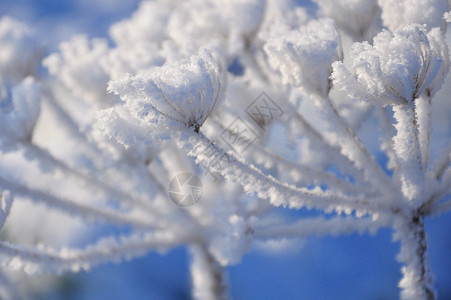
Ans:
[[[421,25],[381,32],[373,45],[356,43],[350,54],[350,69],[334,63],[334,84],[355,100],[383,106],[414,101],[425,91],[435,94],[449,65],[440,30],[427,32]]]

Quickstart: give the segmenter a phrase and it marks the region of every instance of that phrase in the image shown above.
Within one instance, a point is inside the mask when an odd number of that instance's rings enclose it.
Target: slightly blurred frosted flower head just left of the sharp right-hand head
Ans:
[[[308,93],[327,95],[331,64],[343,57],[334,22],[311,21],[298,30],[275,25],[272,30],[264,46],[271,66],[282,74],[286,83]]]

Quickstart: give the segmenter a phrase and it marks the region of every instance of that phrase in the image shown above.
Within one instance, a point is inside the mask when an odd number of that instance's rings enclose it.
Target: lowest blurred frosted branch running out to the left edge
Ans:
[[[0,242],[1,264],[27,273],[62,273],[89,270],[101,263],[143,256],[151,249],[165,249],[193,240],[192,236],[174,231],[133,233],[128,236],[102,238],[85,249],[52,249],[24,247]]]

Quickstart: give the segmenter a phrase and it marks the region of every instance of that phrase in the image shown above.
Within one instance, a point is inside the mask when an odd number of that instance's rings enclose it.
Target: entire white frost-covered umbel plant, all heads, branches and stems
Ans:
[[[449,122],[432,116],[436,105],[450,107],[439,93],[449,6],[313,2],[145,1],[111,26],[113,46],[87,36],[62,42],[42,62],[49,74],[38,71],[31,31],[0,20],[0,226],[12,233],[0,241],[5,270],[77,272],[186,245],[193,297],[224,299],[226,267],[259,241],[389,227],[401,242],[401,298],[434,299],[424,219],[451,210],[451,132],[440,128]],[[223,137],[238,137],[229,125],[261,92],[277,108],[259,106],[262,121],[246,122],[260,138],[232,151]],[[167,195],[182,172],[203,184],[190,208]],[[30,209],[62,213],[60,238],[14,234]],[[319,216],[292,222],[289,209]],[[67,232],[99,223],[126,230],[73,246]],[[22,297],[8,277],[0,273],[1,297]]]

